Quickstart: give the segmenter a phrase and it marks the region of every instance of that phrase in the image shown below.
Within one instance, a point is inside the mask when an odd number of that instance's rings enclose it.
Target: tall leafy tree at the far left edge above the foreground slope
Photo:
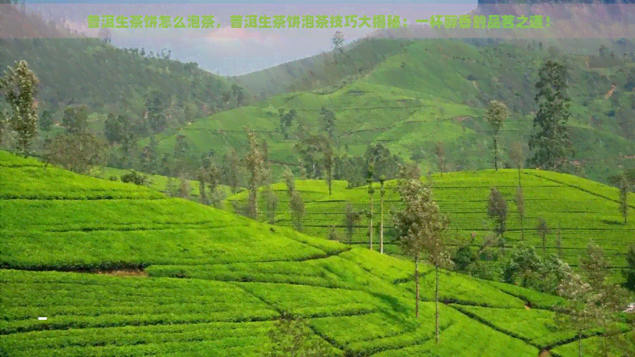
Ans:
[[[26,156],[31,139],[36,134],[38,115],[35,97],[38,94],[39,79],[29,69],[26,61],[16,62],[13,69],[4,72],[0,78],[0,94],[13,110],[9,117],[11,127],[18,134],[18,150]]]

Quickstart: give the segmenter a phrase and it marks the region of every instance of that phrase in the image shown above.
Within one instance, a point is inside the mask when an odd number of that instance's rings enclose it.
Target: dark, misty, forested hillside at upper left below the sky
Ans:
[[[197,64],[175,61],[167,49],[156,54],[121,49],[64,24],[46,22],[39,14],[25,14],[6,4],[2,9],[0,67],[4,72],[15,61],[28,62],[39,78],[39,114],[51,112],[54,132],[60,130],[55,124],[61,124],[66,106],[84,104],[91,114],[91,129],[103,131],[111,113],[129,116],[131,127],[143,137],[149,134],[141,120],[146,95],[155,89],[161,104],[171,109],[165,129],[226,109],[222,96],[233,82]],[[4,106],[0,101],[0,109]],[[45,125],[41,129],[49,131]]]

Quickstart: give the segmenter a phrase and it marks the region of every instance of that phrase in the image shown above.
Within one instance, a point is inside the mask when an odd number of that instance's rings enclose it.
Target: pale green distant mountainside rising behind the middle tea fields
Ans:
[[[531,112],[536,110],[533,86],[545,56],[546,50],[529,51],[510,44],[478,48],[461,41],[419,41],[401,53],[390,54],[369,74],[346,86],[282,94],[216,114],[178,134],[186,136],[199,155],[212,147],[243,147],[245,135],[236,128],[249,123],[269,141],[272,161],[294,164],[296,139],[285,141],[278,132],[278,109],[296,109],[299,124],[319,130],[319,109],[327,106],[336,112],[339,144],[348,145],[350,154],[361,154],[368,144],[382,142],[406,161],[419,155],[424,166],[434,167],[432,149],[441,141],[450,169],[486,169],[492,161],[491,137],[489,126],[481,119],[481,103],[498,99],[514,111],[499,139],[501,161],[508,161],[511,144],[526,142],[531,133]],[[629,69],[630,64],[614,68],[616,76],[609,79],[587,69],[586,56],[568,55],[567,63],[572,84],[569,94],[574,99],[570,126],[578,157],[594,159],[585,162],[584,170],[591,178],[604,179],[618,164],[633,164],[632,160],[614,159],[635,152],[635,145],[621,136],[617,121],[606,116],[612,104],[604,99],[611,81],[623,85],[616,73],[622,67]],[[466,80],[470,74],[475,81]],[[161,137],[159,150],[173,150],[176,135]]]

